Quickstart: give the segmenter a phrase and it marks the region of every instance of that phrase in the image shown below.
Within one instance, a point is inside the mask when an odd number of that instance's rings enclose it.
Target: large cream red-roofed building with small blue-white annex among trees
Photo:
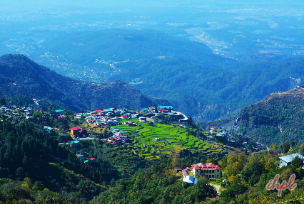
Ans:
[[[191,167],[181,169],[175,168],[176,171],[181,171],[183,174],[183,182],[193,186],[198,181],[196,176],[206,176],[207,178],[222,178],[221,167],[214,163],[194,163]],[[188,171],[191,171],[193,176],[189,175]]]

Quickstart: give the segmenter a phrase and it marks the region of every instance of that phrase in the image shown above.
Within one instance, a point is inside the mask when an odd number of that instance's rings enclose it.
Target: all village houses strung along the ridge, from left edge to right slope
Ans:
[[[38,100],[34,100],[36,103]],[[0,107],[2,112],[5,112],[7,117],[17,117],[19,119],[33,119],[34,114],[37,114],[37,111],[34,111],[30,107]],[[39,113],[38,111],[38,114]],[[67,109],[51,109],[48,112],[49,116],[56,119],[64,119],[67,114],[71,112]],[[105,129],[106,131],[87,131],[85,127],[69,127],[69,134],[71,135],[72,140],[87,140],[87,139],[103,139],[108,145],[118,146],[122,142],[126,142],[128,139],[128,131],[123,131],[117,126],[124,124],[127,127],[136,127],[141,124],[167,124],[173,125],[173,127],[180,127],[183,129],[188,129],[188,124],[192,123],[192,119],[181,113],[173,110],[172,106],[152,106],[146,107],[138,110],[128,110],[128,109],[98,109],[91,112],[81,112],[75,113],[73,116],[76,120],[81,120],[86,122],[86,124],[91,125],[91,127],[99,127],[100,129]],[[136,123],[135,121],[139,123]],[[192,123],[193,124],[193,123]],[[92,130],[93,128],[91,128]],[[49,134],[55,134],[55,129],[49,126],[45,126],[44,130],[49,132]],[[102,136],[101,136],[102,134]],[[204,136],[208,139],[217,139],[222,141],[229,146],[237,146],[235,142],[235,136],[228,134],[228,131],[222,130],[217,127],[210,127],[210,129],[204,132]],[[240,135],[238,135],[240,136]],[[153,138],[154,141],[161,140],[159,136]],[[262,151],[267,149],[258,142],[253,141],[253,139],[246,138],[243,136],[243,142],[239,145],[240,148],[245,149],[248,146],[253,146],[253,151]]]

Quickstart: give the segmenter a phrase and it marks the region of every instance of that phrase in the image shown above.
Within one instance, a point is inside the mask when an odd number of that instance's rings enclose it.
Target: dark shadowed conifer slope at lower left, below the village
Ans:
[[[83,165],[72,151],[58,145],[58,135],[50,136],[41,124],[1,118],[0,178],[29,177],[49,190],[77,192],[77,198],[86,200],[101,193],[105,188],[101,184],[119,178],[118,171],[108,171],[113,166],[107,161]]]

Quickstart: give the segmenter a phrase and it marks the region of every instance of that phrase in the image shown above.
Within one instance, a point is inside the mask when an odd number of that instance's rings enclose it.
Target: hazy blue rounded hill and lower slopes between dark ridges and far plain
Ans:
[[[166,98],[196,121],[236,116],[304,79],[304,58],[256,54],[235,61],[213,54],[203,43],[151,30],[66,33],[39,46],[39,62],[62,75],[126,81],[145,95]]]

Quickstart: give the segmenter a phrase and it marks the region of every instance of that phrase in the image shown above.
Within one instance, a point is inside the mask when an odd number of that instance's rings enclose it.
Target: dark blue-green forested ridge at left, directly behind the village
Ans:
[[[147,97],[123,81],[108,83],[73,80],[38,65],[24,55],[0,57],[1,95],[49,100],[73,111],[81,109],[126,108],[140,109],[167,100]]]

